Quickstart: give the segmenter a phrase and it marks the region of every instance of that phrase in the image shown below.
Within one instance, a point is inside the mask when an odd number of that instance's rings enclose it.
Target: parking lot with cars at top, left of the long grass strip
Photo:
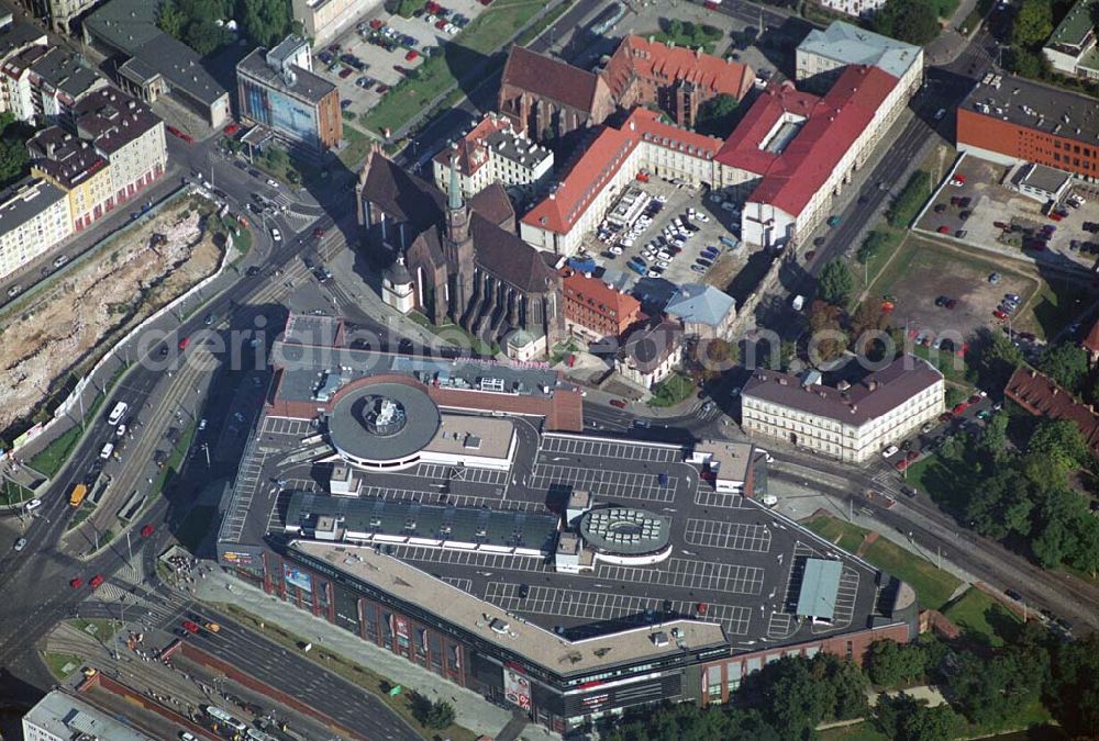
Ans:
[[[475,0],[451,0],[428,2],[412,18],[371,13],[315,49],[313,68],[340,89],[343,110],[362,114],[425,58],[440,54],[484,9]]]

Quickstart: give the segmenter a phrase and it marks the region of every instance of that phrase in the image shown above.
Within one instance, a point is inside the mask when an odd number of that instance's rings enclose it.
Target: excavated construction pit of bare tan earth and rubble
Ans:
[[[71,377],[213,274],[224,243],[180,197],[68,266],[0,316],[0,429],[35,415]]]

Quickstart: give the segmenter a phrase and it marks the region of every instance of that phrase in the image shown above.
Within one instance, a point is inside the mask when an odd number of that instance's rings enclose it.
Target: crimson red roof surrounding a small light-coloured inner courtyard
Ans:
[[[717,159],[763,176],[750,202],[801,213],[840,160],[869,125],[898,79],[877,67],[852,65],[823,98],[789,83],[768,87],[729,136]],[[801,130],[780,153],[762,149],[784,117],[803,119]]]

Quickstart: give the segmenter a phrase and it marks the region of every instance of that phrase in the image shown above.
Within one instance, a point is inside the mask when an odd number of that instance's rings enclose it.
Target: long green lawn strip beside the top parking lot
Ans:
[[[456,85],[459,76],[467,86],[491,76],[503,65],[498,49],[544,7],[542,0],[497,0],[454,41],[443,44],[441,54],[424,61],[415,79],[399,82],[359,121],[373,132],[396,133]]]

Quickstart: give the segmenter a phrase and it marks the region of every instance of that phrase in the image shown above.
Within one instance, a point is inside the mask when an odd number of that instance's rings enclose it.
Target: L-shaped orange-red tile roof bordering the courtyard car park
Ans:
[[[531,209],[523,216],[523,223],[566,234],[641,142],[689,151],[706,159],[713,159],[721,146],[721,141],[712,136],[663,123],[655,111],[634,109],[622,128],[603,128],[557,190]]]

